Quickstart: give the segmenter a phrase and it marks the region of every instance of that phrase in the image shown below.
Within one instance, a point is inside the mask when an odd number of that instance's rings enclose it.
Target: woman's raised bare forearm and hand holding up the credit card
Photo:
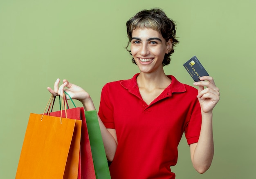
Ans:
[[[194,83],[195,86],[198,86],[197,97],[201,106],[202,126],[198,142],[190,145],[190,154],[195,170],[204,173],[211,166],[213,159],[212,116],[213,108],[220,99],[220,93],[212,77],[204,76],[200,77],[200,80],[207,80]],[[204,89],[204,86],[207,88]]]

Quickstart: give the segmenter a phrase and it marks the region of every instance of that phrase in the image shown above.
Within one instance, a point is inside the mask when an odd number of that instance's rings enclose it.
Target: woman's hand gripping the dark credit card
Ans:
[[[202,112],[212,112],[220,100],[220,90],[216,87],[213,77],[202,76],[200,82],[195,82],[194,85],[198,86],[198,100],[201,105]],[[205,81],[206,80],[206,81]],[[207,88],[204,88],[206,86]]]

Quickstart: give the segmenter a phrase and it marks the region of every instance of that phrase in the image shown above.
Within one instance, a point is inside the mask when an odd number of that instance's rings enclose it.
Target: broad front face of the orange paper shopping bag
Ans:
[[[63,179],[78,120],[30,114],[16,179]]]

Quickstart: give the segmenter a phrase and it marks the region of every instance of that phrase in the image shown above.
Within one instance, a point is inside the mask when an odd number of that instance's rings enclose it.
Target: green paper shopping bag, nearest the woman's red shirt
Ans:
[[[92,159],[97,179],[111,179],[96,110],[85,111]]]

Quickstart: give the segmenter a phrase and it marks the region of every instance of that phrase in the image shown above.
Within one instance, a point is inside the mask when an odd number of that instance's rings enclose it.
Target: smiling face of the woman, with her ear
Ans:
[[[166,42],[162,35],[153,29],[133,30],[131,53],[139,70],[143,73],[161,70],[164,55],[171,49],[171,44],[171,40]]]

